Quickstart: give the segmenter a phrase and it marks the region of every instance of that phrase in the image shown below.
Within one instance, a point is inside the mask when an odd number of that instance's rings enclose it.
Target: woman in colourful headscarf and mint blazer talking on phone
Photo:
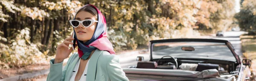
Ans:
[[[80,8],[70,24],[74,38],[70,36],[58,45],[55,59],[50,60],[47,81],[128,81],[107,38],[105,17],[94,5]],[[69,44],[78,46],[78,53],[62,70],[63,60],[73,51]]]

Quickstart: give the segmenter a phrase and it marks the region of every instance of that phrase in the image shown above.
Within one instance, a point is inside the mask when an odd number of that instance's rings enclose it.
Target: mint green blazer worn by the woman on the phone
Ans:
[[[54,63],[50,60],[50,72],[47,81],[69,81],[72,72],[79,61],[78,53],[74,53],[67,61],[67,65],[62,70],[62,64]],[[129,81],[125,76],[120,64],[119,58],[110,54],[108,51],[96,49],[90,57],[87,68],[86,81]]]

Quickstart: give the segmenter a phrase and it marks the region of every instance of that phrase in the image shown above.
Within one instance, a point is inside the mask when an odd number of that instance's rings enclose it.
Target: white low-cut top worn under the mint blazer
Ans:
[[[73,73],[71,75],[70,81],[75,81],[76,73],[77,73],[79,65],[80,65],[80,60],[81,60],[81,58],[79,59],[78,62],[76,62],[76,67],[73,70]],[[81,76],[79,81],[86,81],[86,74],[87,74],[87,68],[88,68],[89,61],[90,61],[90,59],[88,60],[86,66],[84,68],[84,73],[82,74],[82,76]]]

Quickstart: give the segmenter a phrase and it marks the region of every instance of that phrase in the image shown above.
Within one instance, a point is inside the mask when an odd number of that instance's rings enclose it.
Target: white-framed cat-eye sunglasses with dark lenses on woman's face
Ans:
[[[70,24],[72,25],[72,27],[78,27],[79,24],[82,23],[82,25],[84,27],[90,27],[94,22],[98,22],[96,20],[93,20],[93,19],[86,19],[86,20],[83,20],[83,21],[79,21],[79,20],[70,20]]]

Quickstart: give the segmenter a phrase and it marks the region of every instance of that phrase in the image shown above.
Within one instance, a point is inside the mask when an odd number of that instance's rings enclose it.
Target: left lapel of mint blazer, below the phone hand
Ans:
[[[75,57],[74,60],[70,63],[70,65],[68,65],[68,68],[66,71],[66,76],[65,76],[65,81],[70,81],[71,74],[72,74],[74,68],[76,67],[76,63],[78,62],[79,59],[80,59],[79,56]]]

